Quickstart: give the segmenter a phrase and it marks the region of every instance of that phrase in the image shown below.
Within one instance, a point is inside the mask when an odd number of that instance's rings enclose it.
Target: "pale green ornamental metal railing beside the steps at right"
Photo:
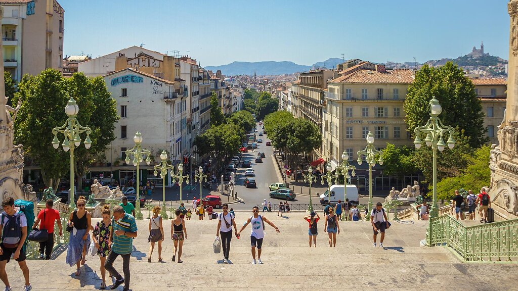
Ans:
[[[501,261],[518,257],[518,219],[465,226],[452,215],[432,217],[428,245],[447,245],[467,261]]]

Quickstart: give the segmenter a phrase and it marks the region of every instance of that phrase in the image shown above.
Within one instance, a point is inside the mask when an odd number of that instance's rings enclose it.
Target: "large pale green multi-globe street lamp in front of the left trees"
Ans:
[[[76,119],[78,112],[79,106],[77,106],[74,98],[70,97],[68,104],[65,106],[65,113],[68,115],[67,121],[62,126],[56,126],[52,129],[52,134],[54,135],[52,146],[54,149],[57,149],[60,146],[60,140],[57,139],[57,133],[60,133],[65,136],[65,140],[61,144],[63,151],[67,152],[70,150],[70,203],[68,205],[70,211],[76,208],[76,199],[74,197],[74,148],[79,147],[81,144],[81,137],[79,135],[82,133],[87,133],[87,138],[84,139],[85,148],[90,149],[90,146],[92,145],[92,141],[90,140],[92,129],[90,129],[90,127],[82,126],[79,124]]]

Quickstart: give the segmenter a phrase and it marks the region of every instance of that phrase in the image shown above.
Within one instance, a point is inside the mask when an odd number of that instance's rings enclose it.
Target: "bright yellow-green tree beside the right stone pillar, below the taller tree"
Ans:
[[[491,170],[488,167],[490,147],[482,146],[467,158],[467,167],[459,176],[444,178],[437,183],[437,197],[451,199],[455,190],[464,188],[477,192],[488,186],[491,180]]]

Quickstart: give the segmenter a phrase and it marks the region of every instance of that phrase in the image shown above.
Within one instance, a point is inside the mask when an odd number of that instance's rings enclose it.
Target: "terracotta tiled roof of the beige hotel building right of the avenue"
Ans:
[[[338,77],[331,83],[395,83],[410,84],[414,81],[412,71],[408,69],[387,69],[381,73],[376,70],[360,69],[349,75]]]

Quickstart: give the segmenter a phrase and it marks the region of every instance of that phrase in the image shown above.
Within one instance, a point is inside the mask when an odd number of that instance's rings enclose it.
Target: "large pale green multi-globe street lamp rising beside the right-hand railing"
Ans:
[[[425,134],[426,138],[424,141],[426,143],[426,146],[431,147],[431,150],[433,151],[434,183],[433,202],[430,209],[430,217],[436,217],[439,214],[439,208],[437,207],[437,150],[442,152],[444,150],[444,146],[446,146],[443,139],[443,135],[445,133],[449,134],[448,141],[446,143],[448,143],[448,147],[450,149],[453,149],[453,147],[455,146],[455,140],[453,139],[454,128],[451,126],[445,126],[437,117],[439,114],[441,114],[442,111],[439,101],[435,97],[433,97],[430,100],[429,105],[430,119],[428,120],[428,122],[426,122],[426,125],[418,126],[414,129],[414,146],[417,149],[421,148],[421,139],[419,138],[419,136],[421,134]]]

